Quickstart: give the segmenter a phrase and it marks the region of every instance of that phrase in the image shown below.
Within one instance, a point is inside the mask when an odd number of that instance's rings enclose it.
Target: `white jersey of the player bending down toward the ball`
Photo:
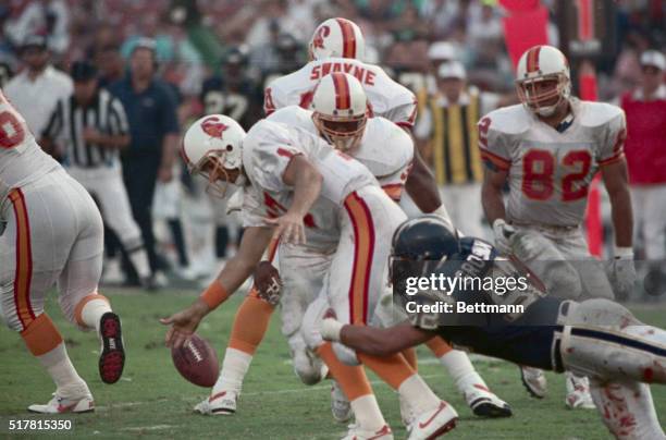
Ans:
[[[243,140],[243,167],[251,183],[243,199],[244,227],[266,225],[264,218],[287,211],[294,192],[282,175],[296,155],[304,155],[323,178],[321,193],[304,218],[306,246],[331,249],[340,241],[340,213],[347,196],[378,182],[365,166],[319,136],[285,124],[259,121]]]

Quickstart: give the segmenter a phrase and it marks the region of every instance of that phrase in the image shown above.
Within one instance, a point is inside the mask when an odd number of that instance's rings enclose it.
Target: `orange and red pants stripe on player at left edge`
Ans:
[[[14,274],[14,306],[16,315],[25,330],[35,313],[30,305],[30,283],[33,280],[33,248],[30,244],[30,222],[25,197],[20,188],[12,191],[9,199],[14,208],[16,221],[16,269]]]

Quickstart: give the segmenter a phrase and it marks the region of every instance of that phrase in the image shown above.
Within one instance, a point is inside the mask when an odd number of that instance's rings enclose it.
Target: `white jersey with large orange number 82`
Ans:
[[[625,113],[615,106],[571,99],[572,119],[555,130],[521,105],[479,122],[483,159],[508,171],[507,219],[516,224],[576,227],[600,167],[624,158]]]

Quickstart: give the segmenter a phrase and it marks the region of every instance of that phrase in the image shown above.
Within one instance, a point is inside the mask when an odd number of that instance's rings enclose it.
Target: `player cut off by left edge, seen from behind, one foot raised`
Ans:
[[[121,322],[97,291],[102,266],[102,220],[90,195],[44,152],[23,117],[0,93],[0,297],[7,325],[23,338],[55,382],[53,399],[35,413],[95,410],[62,335],[44,311],[58,284],[65,317],[101,341],[99,374],[116,382],[125,354]]]

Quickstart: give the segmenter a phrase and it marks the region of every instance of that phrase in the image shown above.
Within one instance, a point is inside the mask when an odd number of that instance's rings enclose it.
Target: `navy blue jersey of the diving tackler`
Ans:
[[[435,273],[446,277],[468,277],[483,280],[526,277],[528,285],[497,294],[486,289],[458,289],[451,292],[449,302],[474,305],[523,305],[522,313],[440,313],[412,316],[412,325],[434,330],[454,345],[474,353],[498,357],[516,364],[552,369],[552,343],[562,300],[545,296],[543,285],[519,261],[499,258],[495,248],[481,240],[464,237],[460,249],[445,262],[433,262]],[[427,271],[428,274],[433,271]],[[490,282],[490,281],[489,281]],[[435,318],[435,319],[433,319]]]

